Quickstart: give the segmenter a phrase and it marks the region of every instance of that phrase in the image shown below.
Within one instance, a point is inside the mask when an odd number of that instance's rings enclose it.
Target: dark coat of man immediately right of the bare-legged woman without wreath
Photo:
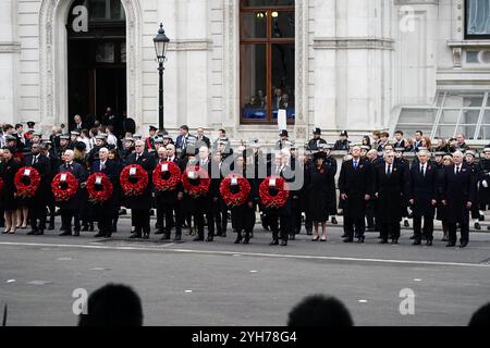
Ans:
[[[342,163],[339,190],[341,195],[347,195],[347,198],[342,201],[344,216],[364,219],[366,214],[365,195],[372,196],[373,190],[370,163],[360,159],[357,170],[354,169],[353,160]]]

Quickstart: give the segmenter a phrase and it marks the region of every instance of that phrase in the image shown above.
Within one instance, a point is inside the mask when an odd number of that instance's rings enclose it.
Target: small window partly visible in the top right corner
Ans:
[[[466,0],[466,38],[490,39],[490,0]]]

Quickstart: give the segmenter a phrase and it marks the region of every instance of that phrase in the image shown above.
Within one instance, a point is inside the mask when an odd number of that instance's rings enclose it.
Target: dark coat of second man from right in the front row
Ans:
[[[434,206],[432,200],[438,200],[438,169],[430,162],[426,164],[426,175],[420,173],[420,164],[412,165],[409,171],[408,200],[413,199],[412,210],[414,215],[433,216]]]

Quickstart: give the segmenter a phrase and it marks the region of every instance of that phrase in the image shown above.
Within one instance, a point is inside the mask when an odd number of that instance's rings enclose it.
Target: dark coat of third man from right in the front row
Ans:
[[[377,196],[377,221],[380,223],[397,223],[402,221],[402,199],[406,195],[407,189],[405,166],[400,163],[393,163],[392,173],[388,175],[385,165],[378,165],[373,174],[375,196]]]

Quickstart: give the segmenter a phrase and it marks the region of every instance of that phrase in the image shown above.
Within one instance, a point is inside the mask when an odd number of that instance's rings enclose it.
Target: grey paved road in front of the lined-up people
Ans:
[[[72,293],[109,283],[132,285],[144,302],[146,325],[284,325],[303,297],[339,297],[357,325],[465,325],[490,301],[490,234],[471,233],[465,249],[342,243],[329,226],[328,243],[299,235],[269,247],[256,231],[248,246],[234,236],[215,243],[130,241],[128,220],[111,240],[0,235],[0,304],[9,325],[75,325]],[[185,231],[184,231],[185,234]],[[415,293],[415,314],[402,315],[400,291]]]

